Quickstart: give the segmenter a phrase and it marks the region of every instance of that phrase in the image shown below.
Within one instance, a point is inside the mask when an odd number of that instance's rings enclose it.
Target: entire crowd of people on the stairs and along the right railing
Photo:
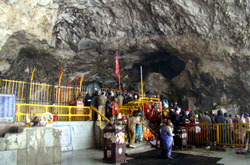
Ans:
[[[82,94],[80,94],[79,97],[82,98]],[[153,95],[149,93],[147,97],[159,98],[159,95]],[[98,91],[95,89],[91,96],[89,93],[86,93],[86,96],[82,99],[84,100],[85,106],[92,105],[108,119],[121,119],[122,116],[120,116],[119,107],[130,101],[137,100],[138,98],[140,98],[139,92],[114,92],[112,90]],[[222,110],[218,110],[217,113],[212,113],[212,111],[197,113],[189,109],[179,107],[177,102],[169,103],[167,99],[162,99],[160,103],[144,103],[138,108],[138,111],[132,112],[131,117],[126,118],[128,123],[127,133],[130,139],[130,147],[135,147],[134,143],[136,141],[141,141],[138,140],[142,137],[141,135],[138,136],[138,132],[142,132],[140,126],[142,119],[144,120],[145,124],[147,124],[153,130],[156,130],[156,132],[160,135],[162,156],[164,157],[172,158],[172,145],[176,143],[176,146],[179,146],[179,141],[176,136],[178,135],[178,129],[180,127],[196,125],[195,127],[192,127],[195,128],[195,130],[190,130],[194,131],[195,133],[199,133],[199,136],[204,135],[204,132],[214,132],[214,127],[205,128],[199,125],[199,123],[229,124],[227,127],[220,127],[220,140],[224,144],[226,143],[226,139],[229,139],[228,142],[231,144],[233,144],[233,141],[235,142],[235,137],[233,135],[236,131],[239,131],[238,127],[234,126],[235,123],[248,124],[244,128],[244,133],[242,136],[240,136],[241,143],[246,144],[245,150],[248,150],[248,143],[250,139],[250,118],[248,113],[244,113],[242,115],[232,115],[228,114],[227,112],[223,113]],[[93,113],[93,120],[101,120],[101,118],[99,115],[97,115],[97,113]],[[189,132],[187,132],[187,136],[189,136]],[[143,137],[145,140],[154,139],[154,136],[149,129],[144,130]],[[216,142],[216,139],[211,137],[209,140],[207,140],[207,144],[211,142]]]

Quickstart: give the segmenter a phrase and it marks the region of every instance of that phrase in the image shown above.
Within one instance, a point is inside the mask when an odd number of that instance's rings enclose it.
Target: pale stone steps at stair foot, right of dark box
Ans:
[[[151,144],[147,144],[147,142],[135,143],[135,148],[129,148],[127,145],[126,154],[131,155],[135,153],[147,152],[154,150],[155,148],[151,146]]]

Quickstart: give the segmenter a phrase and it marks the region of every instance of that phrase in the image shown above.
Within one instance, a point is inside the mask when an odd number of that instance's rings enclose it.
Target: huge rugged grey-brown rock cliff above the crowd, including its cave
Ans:
[[[6,77],[138,88],[191,109],[250,108],[247,0],[4,0],[0,70]],[[23,72],[26,71],[26,72]],[[140,89],[140,88],[138,88]]]

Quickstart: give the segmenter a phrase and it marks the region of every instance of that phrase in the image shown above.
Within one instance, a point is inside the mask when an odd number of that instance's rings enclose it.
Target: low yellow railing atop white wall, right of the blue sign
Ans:
[[[25,116],[42,116],[50,112],[57,116],[57,121],[83,121],[92,120],[92,110],[83,106],[61,106],[61,105],[40,105],[40,104],[16,104],[16,121],[24,122]],[[80,112],[80,113],[79,113]]]

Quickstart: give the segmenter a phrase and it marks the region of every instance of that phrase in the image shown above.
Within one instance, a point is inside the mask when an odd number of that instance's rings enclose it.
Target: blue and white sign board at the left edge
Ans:
[[[0,123],[15,121],[16,95],[0,93]]]

